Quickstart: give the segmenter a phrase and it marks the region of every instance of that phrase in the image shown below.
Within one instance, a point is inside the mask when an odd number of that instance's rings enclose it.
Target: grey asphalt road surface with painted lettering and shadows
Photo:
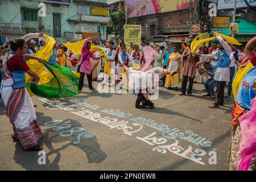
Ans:
[[[188,97],[162,87],[152,110],[136,109],[135,94],[86,84],[73,98],[33,96],[46,155],[12,140],[1,103],[0,170],[226,170],[233,100],[210,109],[202,90],[195,84]]]

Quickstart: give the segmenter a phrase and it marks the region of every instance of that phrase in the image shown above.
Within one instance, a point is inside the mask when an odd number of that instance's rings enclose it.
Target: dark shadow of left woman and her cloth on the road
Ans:
[[[48,148],[49,152],[46,154],[46,165],[39,165],[38,151],[25,151],[22,146],[17,142],[16,150],[14,154],[14,160],[17,164],[20,164],[26,170],[59,170],[59,162],[61,159],[61,151],[65,150],[69,146],[76,147],[77,149],[85,152],[88,163],[100,163],[106,158],[106,154],[101,150],[100,144],[97,142],[97,138],[92,133],[85,130],[77,132],[72,129],[75,127],[82,128],[78,121],[73,119],[66,119],[61,123],[53,123],[52,118],[44,116],[43,113],[36,113],[40,126],[50,127],[47,130],[43,130],[43,143],[44,148]],[[54,143],[68,142],[60,148],[53,146]],[[49,160],[49,156],[55,155],[52,162]],[[75,155],[75,154],[74,154]],[[77,156],[83,159],[84,155]]]

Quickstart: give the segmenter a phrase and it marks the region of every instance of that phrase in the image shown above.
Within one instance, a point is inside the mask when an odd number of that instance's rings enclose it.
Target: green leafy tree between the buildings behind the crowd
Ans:
[[[110,12],[109,17],[110,22],[107,26],[108,34],[114,33],[115,36],[123,36],[123,26],[125,25],[125,10],[120,9],[117,12]]]

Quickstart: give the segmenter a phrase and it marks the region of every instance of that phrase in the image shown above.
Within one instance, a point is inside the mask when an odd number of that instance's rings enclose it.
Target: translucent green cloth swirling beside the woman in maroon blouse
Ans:
[[[61,67],[59,64],[43,62],[44,66],[53,75],[49,82],[42,85],[35,85],[33,82],[27,84],[31,92],[36,96],[44,98],[66,98],[73,97],[80,93],[78,84],[79,77],[68,67]]]

